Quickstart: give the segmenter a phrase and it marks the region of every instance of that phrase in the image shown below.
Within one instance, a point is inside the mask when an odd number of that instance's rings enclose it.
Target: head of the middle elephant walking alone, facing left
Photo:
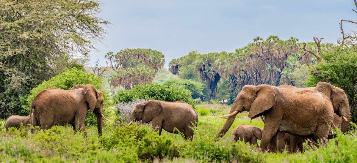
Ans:
[[[153,118],[159,115],[161,110],[162,106],[160,102],[156,100],[149,100],[136,104],[134,110],[131,112],[131,122],[128,123],[128,125],[130,125],[133,121],[140,120],[142,120],[142,123],[150,122]]]

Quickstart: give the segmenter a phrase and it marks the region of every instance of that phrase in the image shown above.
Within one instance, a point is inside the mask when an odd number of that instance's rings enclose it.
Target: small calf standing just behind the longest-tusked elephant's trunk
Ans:
[[[263,129],[252,125],[239,125],[233,132],[234,141],[244,141],[258,146],[257,140],[262,138]]]

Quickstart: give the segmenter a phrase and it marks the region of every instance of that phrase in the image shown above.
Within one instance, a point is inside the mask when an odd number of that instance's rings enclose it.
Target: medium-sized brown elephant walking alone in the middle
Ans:
[[[166,102],[149,100],[135,105],[130,116],[130,125],[133,121],[142,123],[152,122],[155,131],[161,135],[162,129],[170,133],[184,134],[185,140],[193,138],[193,125],[197,127],[198,116],[190,104],[183,101]]]

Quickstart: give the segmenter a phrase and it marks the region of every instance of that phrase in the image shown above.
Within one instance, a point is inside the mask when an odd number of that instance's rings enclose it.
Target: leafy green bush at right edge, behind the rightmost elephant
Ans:
[[[357,104],[357,52],[353,48],[333,47],[321,54],[322,61],[310,68],[311,75],[306,86],[316,86],[318,82],[327,82],[343,89],[350,106]],[[357,121],[357,111],[351,107],[352,121]]]

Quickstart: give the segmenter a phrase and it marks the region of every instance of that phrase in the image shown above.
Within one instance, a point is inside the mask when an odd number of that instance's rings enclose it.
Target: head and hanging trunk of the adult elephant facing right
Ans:
[[[78,89],[78,88],[83,88],[83,94],[86,102],[88,103],[89,109],[93,114],[95,114],[97,118],[97,129],[98,129],[98,136],[102,135],[102,122],[103,118],[107,121],[109,121],[104,115],[103,115],[103,94],[100,90],[97,90],[93,85],[87,84],[87,85],[75,85],[74,87],[71,88],[73,89]]]

